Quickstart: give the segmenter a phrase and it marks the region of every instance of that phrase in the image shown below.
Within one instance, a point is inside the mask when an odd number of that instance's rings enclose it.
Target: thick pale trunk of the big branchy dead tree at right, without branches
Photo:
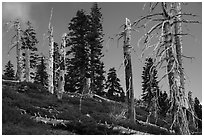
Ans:
[[[177,22],[179,16],[177,16],[174,20],[170,18],[179,13],[177,12],[179,7],[175,7],[174,4],[180,5],[179,3],[172,3],[170,10],[167,10],[167,5],[165,3],[162,3],[164,13],[163,15],[167,20],[163,26],[165,49],[168,49],[166,52],[167,74],[170,87],[170,99],[172,103],[171,109],[173,112],[173,121],[175,122],[173,124],[176,124],[175,126],[176,128],[178,128],[177,132],[179,134],[188,135],[190,134],[190,131],[186,116],[187,102],[185,100],[184,91],[181,43],[180,36],[178,35],[179,33],[181,33],[181,24],[178,24]],[[176,52],[173,52],[173,50]]]

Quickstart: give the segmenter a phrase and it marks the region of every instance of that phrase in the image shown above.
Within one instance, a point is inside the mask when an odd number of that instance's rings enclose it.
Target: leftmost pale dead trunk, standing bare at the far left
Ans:
[[[21,63],[21,47],[20,47],[20,22],[17,20],[15,22],[16,28],[17,28],[17,45],[16,45],[16,58],[17,58],[17,72],[16,72],[16,78],[19,81],[22,81],[22,63]]]

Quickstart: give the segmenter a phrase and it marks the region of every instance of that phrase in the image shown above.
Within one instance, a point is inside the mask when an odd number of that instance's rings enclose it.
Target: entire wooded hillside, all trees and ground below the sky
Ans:
[[[125,17],[122,31],[110,40],[122,42],[125,86],[117,66],[105,70],[104,32],[100,3],[90,12],[76,10],[61,43],[54,39],[51,9],[46,41],[48,56],[39,51],[36,28],[20,19],[6,24],[13,30],[2,73],[3,135],[202,135],[202,104],[186,90],[183,59],[185,24],[200,25],[186,3],[145,3],[149,12],[134,22]],[[25,28],[22,25],[26,26]],[[147,27],[150,25],[150,27]],[[118,26],[120,27],[120,26]],[[145,34],[132,43],[137,29]],[[155,43],[156,44],[152,44]],[[141,76],[133,73],[133,45],[144,59]],[[153,50],[152,50],[153,49]],[[147,56],[146,53],[151,53]],[[16,70],[15,70],[16,69]],[[163,71],[165,70],[165,72]],[[142,82],[133,82],[141,77]],[[168,91],[159,85],[165,81]],[[135,85],[142,86],[136,98]]]

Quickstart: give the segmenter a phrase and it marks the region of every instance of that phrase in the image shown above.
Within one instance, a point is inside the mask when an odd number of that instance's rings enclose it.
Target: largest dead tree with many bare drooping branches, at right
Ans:
[[[152,13],[159,3],[150,4],[150,14],[135,21],[133,25],[137,26],[141,21],[148,20],[142,26],[146,27],[150,22],[156,23],[140,40],[144,40],[143,52],[150,47],[154,47],[152,52],[155,55],[155,64],[159,68],[166,67],[166,74],[162,77],[168,77],[170,88],[170,110],[173,114],[171,128],[174,128],[178,134],[190,134],[189,123],[186,110],[188,101],[184,88],[184,69],[182,62],[182,43],[181,36],[182,23],[198,23],[189,21],[182,16],[195,15],[191,13],[181,13],[181,3],[161,3],[161,13]],[[151,44],[152,39],[159,36],[156,44]],[[143,53],[142,53],[143,54]],[[165,66],[162,66],[166,62]]]

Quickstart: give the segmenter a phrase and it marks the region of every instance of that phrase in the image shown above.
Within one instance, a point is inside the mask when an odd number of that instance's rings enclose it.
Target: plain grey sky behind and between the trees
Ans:
[[[39,53],[48,55],[48,23],[51,9],[53,8],[53,15],[51,24],[54,27],[54,40],[61,43],[63,33],[68,33],[68,24],[71,19],[75,17],[77,10],[84,9],[87,14],[90,13],[92,2],[28,2],[28,3],[2,3],[2,70],[5,64],[11,60],[16,66],[16,51],[13,49],[8,54],[11,46],[11,38],[15,34],[10,25],[5,25],[9,21],[20,19],[21,22],[31,21],[33,24],[39,44],[37,48]],[[124,24],[125,18],[134,22],[141,16],[148,14],[148,3],[142,2],[99,2],[103,16],[103,62],[105,70],[115,67],[117,75],[121,81],[121,85],[125,90],[125,77],[123,66],[123,39],[118,42],[119,34],[122,31],[121,25]],[[159,10],[157,7],[155,10]],[[187,3],[183,6],[184,13],[193,13],[198,15],[194,18],[202,21],[202,3]],[[190,18],[193,19],[193,18]],[[23,24],[23,23],[22,23]],[[21,26],[25,29],[25,26]],[[193,97],[198,97],[202,101],[202,24],[188,24],[183,27],[183,31],[191,35],[182,38],[183,53],[186,56],[195,57],[194,60],[184,59],[184,71],[186,74],[185,89],[192,91]],[[138,40],[144,35],[145,30],[132,32],[131,46],[134,51],[132,56],[132,70],[133,70],[133,88],[135,97],[140,98],[142,93],[142,70],[144,67],[145,57],[141,57],[142,44],[138,45]],[[110,39],[112,38],[112,39]],[[146,53],[145,56],[148,56]],[[159,84],[161,90],[168,92],[167,79],[163,79]]]

